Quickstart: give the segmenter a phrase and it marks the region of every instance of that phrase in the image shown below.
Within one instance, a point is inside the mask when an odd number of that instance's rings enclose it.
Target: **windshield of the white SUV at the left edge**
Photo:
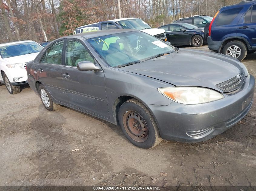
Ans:
[[[42,46],[35,42],[19,43],[6,46],[0,46],[0,54],[2,58],[10,58],[25,54],[38,53],[42,50]]]

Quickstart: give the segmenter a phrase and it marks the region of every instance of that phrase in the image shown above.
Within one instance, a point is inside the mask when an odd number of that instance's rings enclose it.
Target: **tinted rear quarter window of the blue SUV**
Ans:
[[[232,23],[242,9],[243,7],[238,7],[222,11],[216,21],[216,25],[219,26]]]

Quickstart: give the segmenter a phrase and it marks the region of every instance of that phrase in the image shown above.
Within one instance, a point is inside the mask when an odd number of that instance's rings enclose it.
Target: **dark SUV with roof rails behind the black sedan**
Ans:
[[[212,19],[210,16],[200,14],[193,17],[179,18],[179,20],[173,21],[173,23],[188,23],[197,27],[204,27],[207,23],[211,23]]]

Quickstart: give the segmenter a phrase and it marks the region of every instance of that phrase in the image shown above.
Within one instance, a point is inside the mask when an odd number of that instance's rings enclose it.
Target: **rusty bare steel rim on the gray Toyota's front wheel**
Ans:
[[[132,110],[126,111],[123,124],[127,134],[136,142],[145,142],[148,139],[148,126],[143,117]]]

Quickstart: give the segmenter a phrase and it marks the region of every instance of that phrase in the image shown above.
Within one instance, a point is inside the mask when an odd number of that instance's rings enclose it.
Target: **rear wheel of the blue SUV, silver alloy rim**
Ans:
[[[231,52],[230,50],[235,50],[235,49],[236,49],[235,47],[238,47],[238,49],[236,50],[236,51],[238,51],[238,52],[239,52],[239,49],[240,49],[240,51],[241,51],[240,56],[238,56],[238,54],[235,55],[235,56],[229,55],[229,53]],[[228,49],[229,49],[229,50],[228,50]],[[227,52],[227,51],[228,51],[228,52]],[[245,45],[243,42],[238,41],[238,40],[234,40],[234,41],[231,41],[231,42],[227,43],[227,44],[224,46],[224,48],[222,49],[222,54],[225,54],[225,55],[227,55],[227,56],[231,56],[231,57],[233,57],[233,58],[236,58],[236,59],[238,59],[239,61],[242,61],[242,60],[246,57],[247,52],[248,52],[248,51],[247,51],[246,45]],[[234,53],[234,54],[235,54],[235,53]],[[232,54],[232,55],[234,55],[234,54]]]

